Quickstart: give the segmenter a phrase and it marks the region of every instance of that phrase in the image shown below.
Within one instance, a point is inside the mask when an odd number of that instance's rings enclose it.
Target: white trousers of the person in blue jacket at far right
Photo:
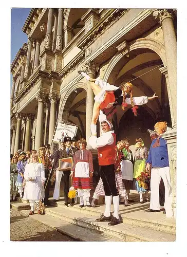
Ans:
[[[166,217],[172,217],[172,187],[170,180],[170,168],[152,168],[151,171],[151,200],[150,209],[160,210],[159,204],[159,185],[160,180],[163,179],[165,187],[165,204],[164,209],[166,212]]]

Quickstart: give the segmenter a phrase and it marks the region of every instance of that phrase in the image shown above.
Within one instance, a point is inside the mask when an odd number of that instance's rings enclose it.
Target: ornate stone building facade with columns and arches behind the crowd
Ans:
[[[116,86],[134,79],[134,96],[158,99],[140,106],[138,117],[118,106],[111,121],[118,140],[141,137],[148,147],[147,128],[159,120],[172,127],[163,137],[175,216],[176,19],[173,9],[33,8],[22,28],[28,42],[11,64],[11,153],[51,143],[58,118],[77,124],[78,138],[88,141],[94,95],[78,70]]]

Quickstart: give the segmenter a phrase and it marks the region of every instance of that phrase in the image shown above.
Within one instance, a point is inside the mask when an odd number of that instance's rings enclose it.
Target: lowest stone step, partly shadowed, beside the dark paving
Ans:
[[[28,210],[22,210],[22,213],[28,215]],[[39,221],[60,233],[66,234],[76,240],[83,242],[118,242],[118,240],[114,240],[114,238],[104,235],[102,232],[98,233],[95,231],[90,231],[86,228],[68,223],[63,221],[62,219],[50,216],[50,215],[38,215],[33,214],[30,216],[31,218]]]

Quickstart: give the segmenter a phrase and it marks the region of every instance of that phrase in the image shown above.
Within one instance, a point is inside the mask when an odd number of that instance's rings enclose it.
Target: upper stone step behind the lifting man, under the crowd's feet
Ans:
[[[67,209],[64,206],[63,199],[54,203],[50,200],[50,205]],[[129,206],[119,206],[119,214],[124,224],[134,225],[141,228],[152,228],[154,230],[167,232],[171,234],[176,234],[176,221],[174,218],[166,218],[162,212],[152,212],[146,213],[145,209],[148,209],[149,203],[133,203]],[[83,207],[80,208],[79,205],[74,205],[73,207],[68,207],[82,214],[94,215],[99,217],[100,214],[104,213],[105,205],[100,205],[96,208]],[[114,206],[111,205],[111,212],[113,213]]]

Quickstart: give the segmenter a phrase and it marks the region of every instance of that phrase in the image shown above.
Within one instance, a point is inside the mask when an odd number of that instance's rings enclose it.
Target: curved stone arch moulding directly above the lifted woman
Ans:
[[[140,48],[147,48],[150,49],[158,54],[160,59],[162,60],[163,65],[166,65],[166,59],[165,59],[165,47],[164,45],[155,40],[155,39],[137,39],[136,41],[132,42],[129,45],[129,49],[125,51],[125,53],[128,53],[130,51],[140,49]],[[119,62],[119,60],[124,56],[121,52],[118,52],[115,54],[115,56],[110,60],[109,65],[105,71],[105,74],[103,76],[104,81],[108,81],[108,78],[111,74],[111,71],[115,67],[115,65]]]

